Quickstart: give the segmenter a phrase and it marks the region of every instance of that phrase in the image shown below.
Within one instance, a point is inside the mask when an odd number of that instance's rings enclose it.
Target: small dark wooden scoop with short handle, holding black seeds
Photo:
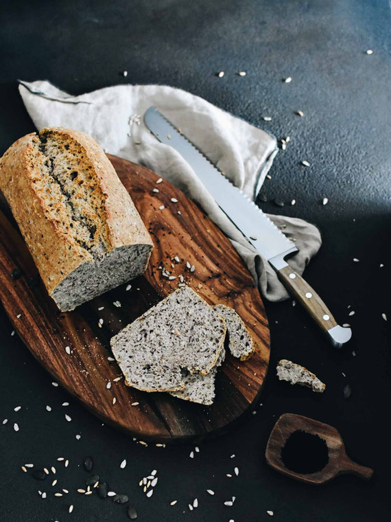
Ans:
[[[296,431],[318,435],[327,444],[329,462],[315,473],[297,473],[287,468],[283,463],[281,450],[292,433]],[[319,442],[322,445],[322,441]],[[373,475],[372,469],[360,466],[349,459],[346,455],[344,441],[335,428],[329,426],[329,424],[323,424],[323,422],[318,422],[318,420],[295,415],[294,413],[284,413],[274,424],[268,445],[266,446],[265,457],[269,466],[272,466],[280,473],[309,484],[324,484],[324,482],[328,482],[337,475],[345,473],[352,473],[363,479],[370,479]]]

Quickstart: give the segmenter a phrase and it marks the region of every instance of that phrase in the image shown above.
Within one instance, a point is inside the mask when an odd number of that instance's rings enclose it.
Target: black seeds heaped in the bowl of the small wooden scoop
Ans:
[[[316,473],[329,462],[327,443],[319,435],[296,430],[281,449],[285,466],[296,473]]]

